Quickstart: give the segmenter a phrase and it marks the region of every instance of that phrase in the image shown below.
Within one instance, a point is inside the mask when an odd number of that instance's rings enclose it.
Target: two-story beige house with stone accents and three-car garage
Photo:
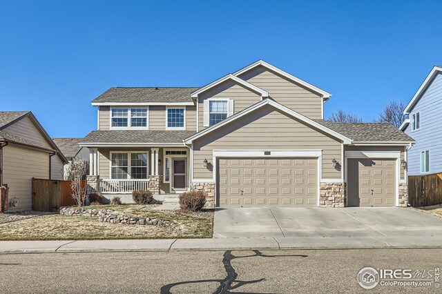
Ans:
[[[111,88],[80,143],[89,183],[106,197],[205,190],[210,206],[406,206],[413,139],[325,121],[330,96],[265,61],[202,88]]]

